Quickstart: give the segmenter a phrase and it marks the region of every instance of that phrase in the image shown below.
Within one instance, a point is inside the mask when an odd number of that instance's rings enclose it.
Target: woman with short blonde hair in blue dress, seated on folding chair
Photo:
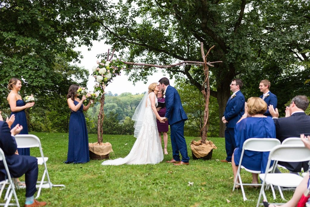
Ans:
[[[243,143],[249,138],[276,138],[276,128],[271,117],[264,116],[267,104],[259,97],[250,97],[245,102],[244,115],[235,127],[237,148],[232,155],[232,171],[237,176]],[[243,154],[242,166],[247,169],[264,173],[269,152],[256,152],[246,150]],[[239,182],[237,180],[237,182]],[[258,174],[252,173],[252,183],[258,183]],[[238,187],[238,186],[237,186]]]

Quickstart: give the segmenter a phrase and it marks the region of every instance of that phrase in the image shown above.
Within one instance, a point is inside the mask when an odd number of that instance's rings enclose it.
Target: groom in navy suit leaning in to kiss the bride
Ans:
[[[170,86],[169,79],[167,78],[161,78],[159,80],[159,88],[161,91],[165,91],[166,114],[164,118],[165,121],[169,120],[171,132],[170,138],[173,158],[166,162],[174,163],[174,165],[188,165],[189,157],[184,138],[184,122],[187,119],[187,115],[183,109],[180,95],[175,88]],[[182,155],[181,162],[179,153]]]

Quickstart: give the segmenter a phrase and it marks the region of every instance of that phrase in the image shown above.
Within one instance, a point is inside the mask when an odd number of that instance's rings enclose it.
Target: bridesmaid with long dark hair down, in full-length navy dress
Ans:
[[[71,85],[67,94],[71,115],[69,121],[68,158],[65,163],[89,162],[88,133],[83,111],[88,110],[91,101],[87,106],[84,106],[83,101],[86,100],[86,97],[83,96],[81,100],[78,98],[78,88],[79,86],[76,84]]]

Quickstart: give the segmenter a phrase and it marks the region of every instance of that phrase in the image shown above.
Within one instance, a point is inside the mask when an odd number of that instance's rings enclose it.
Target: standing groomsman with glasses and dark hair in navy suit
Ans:
[[[229,97],[224,115],[222,117],[222,122],[226,124],[225,129],[225,148],[227,157],[221,162],[231,162],[232,153],[236,146],[235,141],[235,126],[237,121],[244,114],[244,102],[245,98],[241,93],[240,89],[243,86],[241,79],[233,79],[230,84],[230,90],[232,91],[232,96]]]

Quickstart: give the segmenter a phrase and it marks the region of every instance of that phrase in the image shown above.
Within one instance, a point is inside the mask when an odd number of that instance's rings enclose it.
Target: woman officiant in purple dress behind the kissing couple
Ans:
[[[165,98],[163,97],[162,91],[157,92],[157,101],[158,101],[158,106],[157,106],[158,114],[161,117],[165,117],[166,103],[165,103]],[[168,155],[168,151],[167,151],[168,134],[167,134],[167,132],[169,131],[169,128],[168,128],[169,124],[167,121],[166,121],[166,123],[160,123],[160,121],[158,121],[158,119],[156,119],[156,121],[157,121],[157,128],[158,128],[158,133],[159,133],[159,137],[160,137],[160,142],[162,142],[162,135],[163,135],[164,153],[165,153],[165,155]]]

